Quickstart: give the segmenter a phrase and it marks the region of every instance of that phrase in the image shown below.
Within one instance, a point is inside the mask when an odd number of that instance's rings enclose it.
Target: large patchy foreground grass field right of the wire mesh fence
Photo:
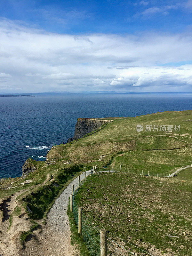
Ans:
[[[76,200],[84,214],[92,216],[95,225],[152,254],[191,255],[192,174],[189,171],[183,170],[177,177],[167,179],[125,172],[101,173],[87,177]],[[188,180],[182,182],[179,175],[188,175]],[[134,250],[128,244],[127,248]]]

